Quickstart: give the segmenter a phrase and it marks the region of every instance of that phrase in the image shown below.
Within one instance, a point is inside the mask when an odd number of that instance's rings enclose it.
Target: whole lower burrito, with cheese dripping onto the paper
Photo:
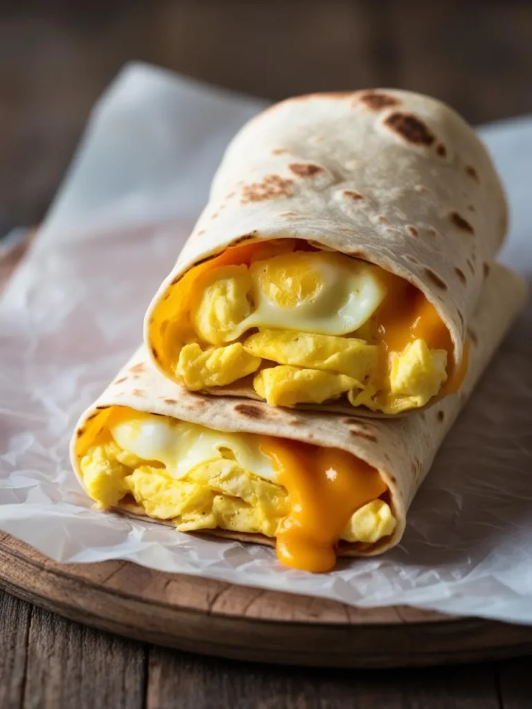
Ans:
[[[101,509],[275,543],[279,560],[298,569],[379,554],[401,539],[416,489],[524,291],[515,274],[492,267],[460,393],[397,420],[192,393],[141,347],[79,420],[74,470]]]

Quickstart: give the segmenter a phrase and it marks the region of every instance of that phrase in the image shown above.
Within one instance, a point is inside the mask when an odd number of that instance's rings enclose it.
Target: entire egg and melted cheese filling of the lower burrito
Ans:
[[[275,537],[283,564],[314,572],[333,568],[340,540],[370,545],[394,531],[379,471],[343,450],[123,406],[101,416],[99,433],[78,451],[100,508],[134,501],[180,531]]]

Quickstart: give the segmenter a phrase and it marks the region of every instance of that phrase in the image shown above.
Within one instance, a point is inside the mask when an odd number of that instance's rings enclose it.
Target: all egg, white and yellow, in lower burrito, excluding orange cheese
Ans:
[[[290,510],[272,459],[253,434],[131,410],[111,421],[80,467],[101,508],[133,496],[147,515],[182,531],[221,527],[275,537]],[[353,513],[342,539],[373,543],[395,524],[388,504],[376,499]]]

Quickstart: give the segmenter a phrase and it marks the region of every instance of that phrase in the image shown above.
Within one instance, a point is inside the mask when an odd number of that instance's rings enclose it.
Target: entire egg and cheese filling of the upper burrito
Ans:
[[[170,369],[190,391],[253,381],[270,406],[396,414],[455,391],[453,342],[408,281],[348,255],[283,239],[196,265],[165,303]]]

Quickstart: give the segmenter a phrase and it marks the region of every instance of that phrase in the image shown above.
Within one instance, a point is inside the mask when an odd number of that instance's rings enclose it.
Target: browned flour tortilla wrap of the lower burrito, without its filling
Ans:
[[[92,445],[110,406],[129,406],[221,431],[277,435],[341,448],[380,471],[389,487],[397,527],[391,537],[375,545],[345,544],[340,547],[340,553],[369,555],[384,552],[401,539],[406,512],[445,433],[514,320],[525,296],[526,286],[521,278],[494,264],[484,281],[480,302],[471,320],[470,368],[462,389],[426,412],[398,420],[368,420],[323,411],[295,411],[272,408],[264,402],[191,393],[165,379],[153,367],[145,347],[141,347],[80,418],[72,438],[72,465],[81,480],[80,456]],[[125,509],[142,515],[141,508],[136,506],[125,506]],[[243,541],[272,543],[261,535],[224,530],[216,530],[216,534]]]

